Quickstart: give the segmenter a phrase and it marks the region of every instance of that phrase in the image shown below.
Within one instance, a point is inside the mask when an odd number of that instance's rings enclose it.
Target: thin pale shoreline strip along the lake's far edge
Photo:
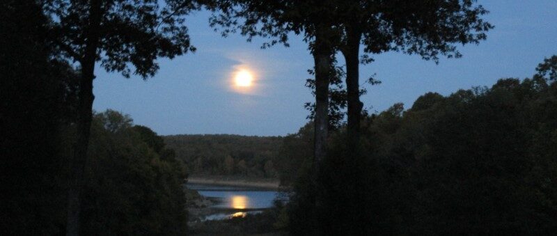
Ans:
[[[188,184],[212,184],[231,187],[254,187],[260,189],[278,190],[281,182],[276,179],[246,180],[241,178],[225,177],[225,176],[190,176],[187,179]]]

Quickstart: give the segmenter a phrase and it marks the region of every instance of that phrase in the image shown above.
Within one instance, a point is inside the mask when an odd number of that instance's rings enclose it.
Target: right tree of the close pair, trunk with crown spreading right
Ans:
[[[336,1],[329,14],[336,15],[343,40],[339,49],[346,61],[348,150],[359,143],[361,109],[359,100],[359,53],[364,63],[368,54],[400,51],[418,54],[425,60],[439,55],[462,56],[455,43],[478,43],[493,26],[480,17],[487,14],[473,0],[434,1]]]

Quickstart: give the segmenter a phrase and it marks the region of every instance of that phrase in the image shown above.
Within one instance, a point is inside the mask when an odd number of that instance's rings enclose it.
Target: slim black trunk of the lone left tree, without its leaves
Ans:
[[[68,188],[68,221],[66,235],[79,235],[81,213],[81,190],[84,187],[84,171],[87,160],[89,136],[91,134],[91,120],[93,119],[93,79],[95,79],[95,60],[99,41],[101,0],[91,0],[89,10],[89,27],[86,47],[81,64],[81,79],[79,81],[77,104],[77,141],[74,143],[74,157],[72,159],[72,179]]]

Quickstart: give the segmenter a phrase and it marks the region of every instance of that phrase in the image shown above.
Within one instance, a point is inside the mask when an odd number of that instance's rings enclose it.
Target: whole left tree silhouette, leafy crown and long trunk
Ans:
[[[191,4],[156,0],[47,1],[52,17],[50,36],[61,57],[79,63],[81,78],[77,104],[77,141],[72,160],[72,184],[68,190],[68,235],[79,234],[80,191],[91,132],[95,63],[109,72],[132,73],[146,79],[157,72],[159,56],[173,58],[194,51],[189,43],[184,15]]]

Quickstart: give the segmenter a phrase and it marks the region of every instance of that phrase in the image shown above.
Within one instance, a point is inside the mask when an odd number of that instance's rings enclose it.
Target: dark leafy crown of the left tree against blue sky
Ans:
[[[184,15],[195,6],[188,4],[161,6],[156,0],[100,1],[100,22],[92,25],[89,1],[54,0],[44,4],[45,13],[54,19],[49,36],[65,58],[84,63],[88,42],[97,40],[94,61],[109,72],[121,72],[143,78],[158,70],[157,57],[173,58],[190,45]],[[98,29],[93,29],[98,27]],[[95,30],[97,37],[91,37]],[[83,66],[83,65],[81,65]]]

